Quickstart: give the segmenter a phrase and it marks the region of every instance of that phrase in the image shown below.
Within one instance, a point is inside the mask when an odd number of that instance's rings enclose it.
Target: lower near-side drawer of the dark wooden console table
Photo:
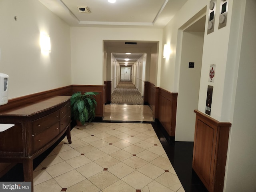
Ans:
[[[60,124],[57,122],[50,128],[44,130],[43,132],[32,136],[32,151],[36,152],[40,148],[44,147],[48,142],[54,139],[60,134]]]

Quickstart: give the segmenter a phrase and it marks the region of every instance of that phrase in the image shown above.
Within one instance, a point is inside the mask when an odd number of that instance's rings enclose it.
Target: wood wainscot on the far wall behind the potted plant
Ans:
[[[105,86],[104,85],[73,85],[72,93],[76,92],[98,92],[99,94],[96,96],[96,110],[95,117],[100,117],[103,119],[104,117],[104,108],[105,108]]]

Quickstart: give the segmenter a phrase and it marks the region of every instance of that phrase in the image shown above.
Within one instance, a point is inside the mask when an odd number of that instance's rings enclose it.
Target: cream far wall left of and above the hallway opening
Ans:
[[[72,84],[103,84],[103,40],[162,42],[162,29],[71,27]]]

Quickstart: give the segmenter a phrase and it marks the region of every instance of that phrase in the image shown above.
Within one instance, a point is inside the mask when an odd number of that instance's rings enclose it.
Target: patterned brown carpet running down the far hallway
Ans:
[[[131,81],[120,81],[112,93],[111,104],[143,105],[144,101]]]

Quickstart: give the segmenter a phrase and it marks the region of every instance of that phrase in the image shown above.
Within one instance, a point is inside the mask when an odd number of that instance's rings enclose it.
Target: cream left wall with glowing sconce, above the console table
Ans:
[[[10,76],[8,99],[71,84],[70,27],[60,18],[37,0],[1,0],[0,26],[0,72]],[[46,55],[41,32],[51,37]]]

